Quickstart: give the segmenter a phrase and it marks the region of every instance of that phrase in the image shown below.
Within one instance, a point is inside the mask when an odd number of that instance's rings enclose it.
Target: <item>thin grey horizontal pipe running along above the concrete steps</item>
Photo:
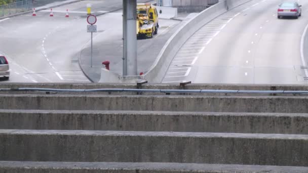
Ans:
[[[208,93],[208,94],[308,94],[308,91],[257,91],[257,90],[160,90],[160,89],[45,89],[45,88],[17,88],[0,89],[0,92],[72,92],[72,93],[91,93],[91,92],[136,92],[136,93]]]

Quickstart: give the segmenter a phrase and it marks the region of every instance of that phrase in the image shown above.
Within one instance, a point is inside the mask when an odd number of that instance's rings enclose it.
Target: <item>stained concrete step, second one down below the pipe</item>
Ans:
[[[2,129],[308,134],[308,114],[0,110]]]

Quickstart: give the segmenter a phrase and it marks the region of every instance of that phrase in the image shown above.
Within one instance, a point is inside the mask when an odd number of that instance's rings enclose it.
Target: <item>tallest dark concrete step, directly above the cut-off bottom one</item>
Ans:
[[[0,160],[308,166],[308,135],[0,129]]]

